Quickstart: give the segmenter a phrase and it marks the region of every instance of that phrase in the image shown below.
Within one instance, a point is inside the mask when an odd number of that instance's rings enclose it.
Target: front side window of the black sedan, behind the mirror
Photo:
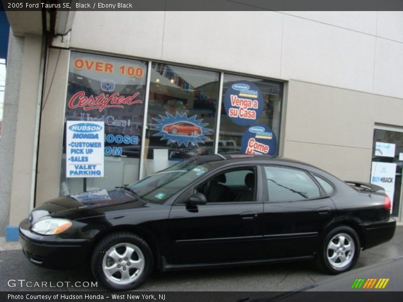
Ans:
[[[255,169],[231,170],[215,175],[196,190],[206,195],[208,203],[256,201]]]

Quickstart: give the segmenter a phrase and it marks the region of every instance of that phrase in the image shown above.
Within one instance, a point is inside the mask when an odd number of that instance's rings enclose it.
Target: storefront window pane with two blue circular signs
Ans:
[[[278,155],[283,84],[224,74],[218,153]]]

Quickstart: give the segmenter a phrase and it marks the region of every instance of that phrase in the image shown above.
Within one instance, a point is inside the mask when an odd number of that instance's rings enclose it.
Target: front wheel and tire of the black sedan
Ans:
[[[97,244],[91,268],[95,278],[108,289],[129,290],[146,281],[153,262],[153,253],[141,237],[117,232]]]

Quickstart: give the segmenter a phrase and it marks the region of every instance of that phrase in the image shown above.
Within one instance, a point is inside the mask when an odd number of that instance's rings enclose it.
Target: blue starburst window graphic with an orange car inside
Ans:
[[[196,115],[187,117],[186,113],[176,113],[175,116],[165,112],[166,116],[159,115],[153,118],[157,123],[151,124],[151,130],[159,131],[153,136],[162,136],[161,140],[167,139],[167,144],[176,142],[179,146],[187,147],[189,143],[198,146],[198,143],[204,143],[210,140],[206,135],[213,134],[213,130],[206,128],[208,123],[202,123],[203,119],[196,119]],[[183,125],[181,125],[183,124]]]

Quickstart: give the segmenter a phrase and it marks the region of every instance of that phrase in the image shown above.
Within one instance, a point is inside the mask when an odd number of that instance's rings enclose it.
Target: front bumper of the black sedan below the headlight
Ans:
[[[29,229],[28,219],[20,223],[20,243],[24,255],[38,266],[77,269],[89,262],[92,240],[42,236]]]

